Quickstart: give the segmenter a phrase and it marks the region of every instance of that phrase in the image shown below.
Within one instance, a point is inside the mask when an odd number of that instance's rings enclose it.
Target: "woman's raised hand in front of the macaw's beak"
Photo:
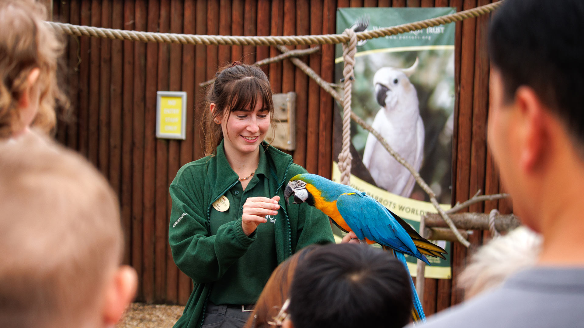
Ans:
[[[241,228],[246,236],[252,234],[260,223],[267,222],[266,215],[278,214],[278,201],[280,196],[249,197],[244,204],[244,211],[241,216]]]

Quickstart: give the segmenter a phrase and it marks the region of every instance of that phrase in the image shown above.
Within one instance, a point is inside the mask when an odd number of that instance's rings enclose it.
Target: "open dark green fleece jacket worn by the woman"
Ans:
[[[284,187],[291,177],[306,173],[292,161],[292,156],[262,144],[267,160],[265,197],[280,196],[280,210],[273,222],[277,263],[304,246],[334,242],[326,215],[308,204],[284,203]],[[169,243],[176,266],[193,280],[194,288],[182,317],[175,328],[198,328],[204,320],[211,288],[228,268],[242,257],[256,239],[241,227],[241,216],[211,233],[212,204],[239,183],[238,175],[225,158],[223,142],[215,156],[207,156],[180,168],[170,186],[172,211]],[[241,212],[241,211],[239,211]],[[272,268],[273,270],[273,268]],[[242,272],[241,275],[253,275]],[[248,286],[249,287],[249,286]],[[237,287],[235,287],[237,288]],[[262,286],[258,286],[261,290]]]

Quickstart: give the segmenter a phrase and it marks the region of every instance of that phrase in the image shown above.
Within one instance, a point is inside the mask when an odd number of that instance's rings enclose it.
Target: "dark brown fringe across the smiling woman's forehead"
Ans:
[[[246,76],[231,83],[231,101],[227,108],[230,111],[253,111],[258,101],[262,101],[263,110],[274,112],[272,89],[266,81],[255,76]]]

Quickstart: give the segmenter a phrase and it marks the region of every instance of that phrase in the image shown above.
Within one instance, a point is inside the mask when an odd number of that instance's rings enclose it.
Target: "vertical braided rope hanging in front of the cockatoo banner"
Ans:
[[[357,35],[353,29],[345,29],[349,42],[343,43],[343,75],[345,75],[345,93],[343,94],[343,148],[339,153],[340,183],[350,185],[351,176],[351,92],[353,89],[355,54],[357,53]]]

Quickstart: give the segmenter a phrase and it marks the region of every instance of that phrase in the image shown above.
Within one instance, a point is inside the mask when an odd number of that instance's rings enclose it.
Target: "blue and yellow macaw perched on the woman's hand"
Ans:
[[[394,252],[404,266],[404,254],[430,264],[426,256],[446,259],[446,251],[419,235],[402,218],[381,205],[366,193],[309,173],[294,176],[284,190],[284,200],[293,197],[294,204],[308,203],[328,215],[342,231],[353,231],[365,242],[379,243]],[[425,321],[422,304],[411,280],[413,293],[412,316]]]

